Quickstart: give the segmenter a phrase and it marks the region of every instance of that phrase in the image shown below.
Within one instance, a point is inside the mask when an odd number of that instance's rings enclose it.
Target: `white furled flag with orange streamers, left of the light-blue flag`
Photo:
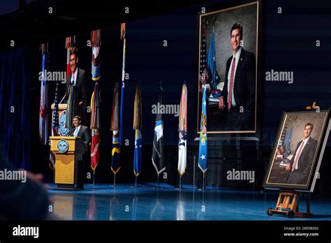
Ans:
[[[183,84],[179,109],[179,144],[178,144],[178,172],[182,177],[186,170],[186,138],[187,138],[187,87]]]

